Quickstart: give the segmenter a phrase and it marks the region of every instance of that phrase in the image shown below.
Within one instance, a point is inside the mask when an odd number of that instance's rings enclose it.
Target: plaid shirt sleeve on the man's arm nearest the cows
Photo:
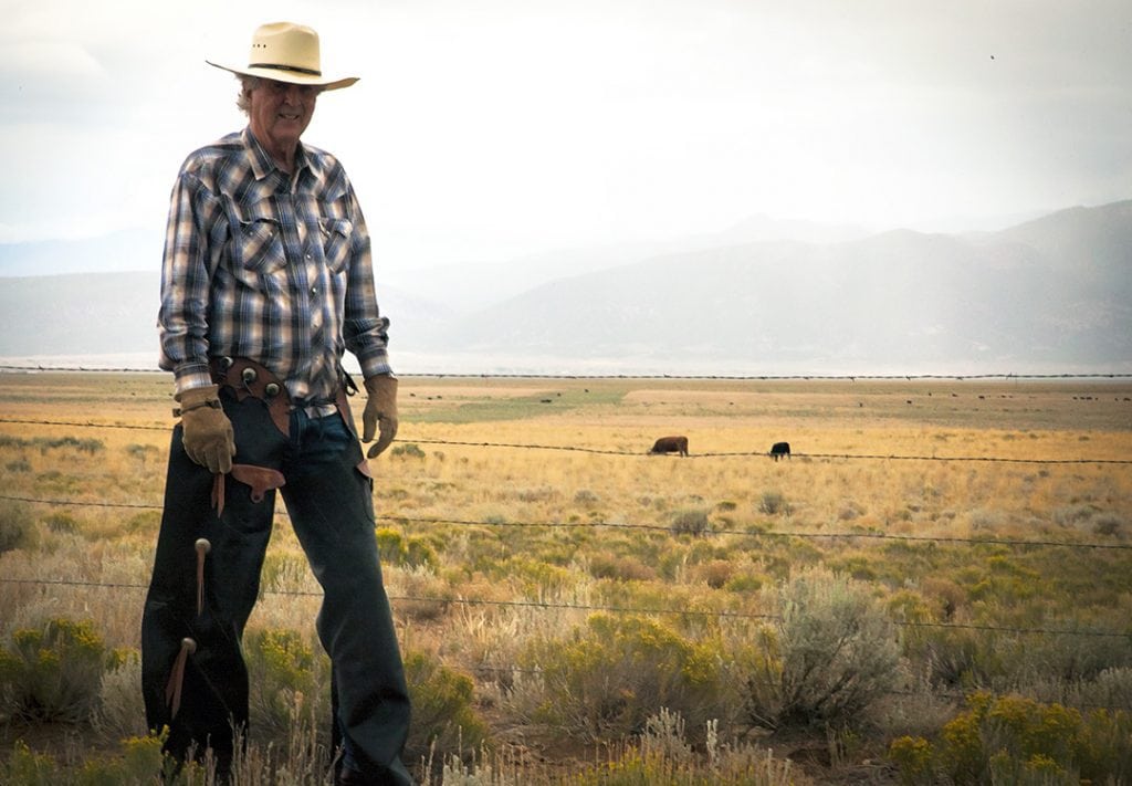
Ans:
[[[393,373],[388,353],[389,321],[378,309],[369,230],[353,187],[350,187],[348,197],[353,233],[342,338],[346,349],[358,357],[362,377],[368,379]]]

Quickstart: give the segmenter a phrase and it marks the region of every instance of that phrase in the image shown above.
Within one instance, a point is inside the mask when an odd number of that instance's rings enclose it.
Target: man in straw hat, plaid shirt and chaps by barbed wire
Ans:
[[[319,93],[357,78],[325,78],[318,35],[290,23],[259,27],[248,62],[209,62],[239,76],[249,122],[189,155],[170,206],[158,327],[181,421],[142,623],[146,719],[179,760],[211,747],[226,777],[277,492],[324,590],[337,783],[411,784],[408,690],[341,366],[344,350],[361,366],[372,459],[397,428],[388,321],[350,180],[300,142]]]

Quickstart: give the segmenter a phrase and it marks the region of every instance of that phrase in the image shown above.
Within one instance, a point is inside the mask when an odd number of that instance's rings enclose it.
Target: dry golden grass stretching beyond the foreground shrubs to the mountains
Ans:
[[[0,639],[69,616],[138,646],[170,393],[163,375],[0,374],[0,496],[34,501],[0,499],[31,522],[0,554]],[[1074,381],[403,378],[397,442],[374,462],[378,524],[435,555],[385,566],[403,646],[473,675],[506,738],[500,691],[524,650],[588,609],[727,610],[740,616],[662,616],[738,647],[761,625],[741,615],[805,566],[933,622],[1123,630],[1132,472],[1043,462],[1132,459],[1129,399]],[[668,434],[692,455],[645,455]],[[67,437],[97,446],[52,446]],[[792,459],[765,455],[779,441]],[[707,531],[672,532],[681,514]],[[252,627],[311,629],[317,586],[283,514],[264,590]],[[1061,663],[1063,641],[1027,635],[1010,647]]]

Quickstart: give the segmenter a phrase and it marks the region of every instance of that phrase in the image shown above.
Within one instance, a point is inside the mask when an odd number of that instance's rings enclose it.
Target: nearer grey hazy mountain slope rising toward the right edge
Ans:
[[[538,287],[437,349],[654,373],[1132,366],[1132,202],[971,237],[755,242]]]

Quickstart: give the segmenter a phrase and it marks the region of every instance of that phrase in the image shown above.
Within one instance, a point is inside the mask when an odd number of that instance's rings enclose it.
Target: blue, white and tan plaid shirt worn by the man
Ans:
[[[337,392],[344,350],[389,374],[389,321],[374,291],[369,232],[342,164],[299,145],[288,174],[249,129],[186,160],[162,265],[161,367],[178,392],[211,385],[211,357],[256,360],[292,399]]]

